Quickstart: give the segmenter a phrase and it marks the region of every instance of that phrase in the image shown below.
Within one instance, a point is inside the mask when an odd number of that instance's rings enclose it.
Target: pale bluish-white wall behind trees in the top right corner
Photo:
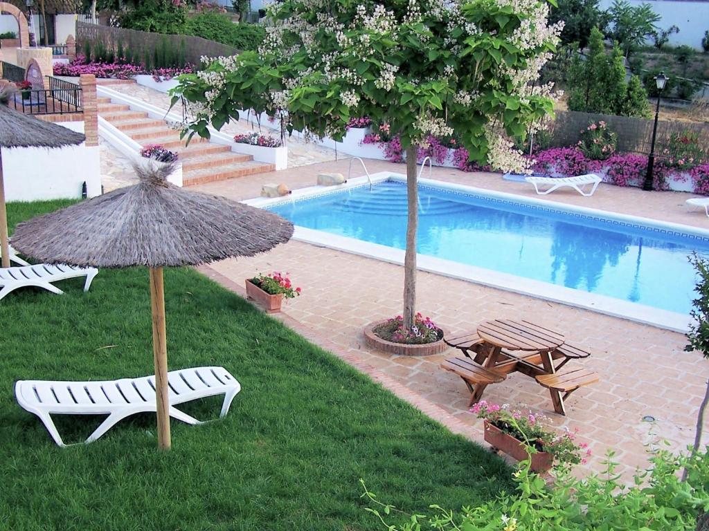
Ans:
[[[662,18],[657,23],[657,28],[666,30],[671,25],[679,28],[679,33],[673,33],[669,44],[690,45],[697,50],[702,48],[704,32],[709,30],[709,2],[685,0],[628,0],[632,6],[647,3],[652,11]],[[608,9],[613,0],[601,0],[599,7]],[[648,42],[651,44],[652,40]]]

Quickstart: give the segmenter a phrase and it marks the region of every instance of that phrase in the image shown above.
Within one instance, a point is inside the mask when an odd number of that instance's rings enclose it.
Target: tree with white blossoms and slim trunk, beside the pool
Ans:
[[[548,11],[545,0],[284,0],[269,7],[258,52],[181,76],[173,105],[183,98],[189,137],[208,137],[208,125],[218,130],[240,109],[335,139],[350,118],[386,122],[406,153],[411,329],[417,145],[455,132],[471,159],[525,171],[510,137],[524,138],[552,112],[552,86],[537,83],[562,29],[547,24]]]

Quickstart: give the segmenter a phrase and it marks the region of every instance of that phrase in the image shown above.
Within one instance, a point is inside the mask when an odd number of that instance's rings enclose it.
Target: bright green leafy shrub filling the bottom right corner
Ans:
[[[709,518],[709,449],[687,457],[656,450],[652,467],[635,474],[632,486],[623,483],[609,452],[603,474],[576,479],[558,473],[554,486],[523,462],[513,480],[515,493],[503,493],[479,507],[459,512],[429,506],[431,515],[403,514],[382,503],[360,480],[370,507],[366,510],[389,531],[452,530],[705,530]],[[687,481],[678,472],[686,467]],[[404,521],[392,523],[391,519]]]

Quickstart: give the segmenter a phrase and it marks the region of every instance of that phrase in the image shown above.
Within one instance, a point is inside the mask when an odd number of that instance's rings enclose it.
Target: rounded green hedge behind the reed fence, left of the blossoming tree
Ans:
[[[220,13],[201,13],[188,18],[181,33],[215,40],[240,50],[256,50],[264,40],[266,30],[259,24],[235,24]]]

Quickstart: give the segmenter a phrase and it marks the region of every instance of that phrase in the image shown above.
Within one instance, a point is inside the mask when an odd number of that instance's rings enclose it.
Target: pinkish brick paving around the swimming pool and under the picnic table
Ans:
[[[370,172],[404,171],[402,165],[381,161],[367,161],[367,166]],[[313,185],[318,171],[346,172],[347,161],[197,188],[245,199],[257,196],[264,180],[283,182],[291,189]],[[433,178],[534,195],[529,185],[503,181],[491,173],[434,169]],[[592,198],[559,190],[547,199],[709,227],[703,212],[685,209],[683,203],[688,197],[691,195],[649,194],[601,185]],[[375,379],[384,375],[383,384],[403,385],[408,394],[396,386],[387,387],[454,431],[474,439],[481,437],[481,423],[467,411],[468,393],[463,382],[438,367],[450,351],[427,358],[406,358],[364,346],[365,324],[401,313],[400,266],[291,241],[263,256],[223,261],[211,269],[238,285],[259,271],[287,270],[303,288],[302,297],[286,304],[287,324],[340,357],[356,360],[360,369],[370,367]],[[452,333],[474,329],[487,319],[533,316],[534,321],[565,333],[570,342],[590,348],[593,356],[583,362],[584,366],[601,373],[602,381],[572,395],[566,402],[565,418],[554,413],[545,389],[519,374],[489,387],[486,399],[543,412],[556,426],[579,428],[581,439],[593,450],[594,458],[589,463],[593,469],[602,468],[601,455],[608,449],[617,452],[624,472],[628,472],[647,464],[645,442],[664,438],[676,449],[693,439],[709,363],[698,353],[683,352],[686,338],[680,333],[430,273],[418,275],[418,309]],[[643,416],[653,416],[657,421],[644,422]]]

